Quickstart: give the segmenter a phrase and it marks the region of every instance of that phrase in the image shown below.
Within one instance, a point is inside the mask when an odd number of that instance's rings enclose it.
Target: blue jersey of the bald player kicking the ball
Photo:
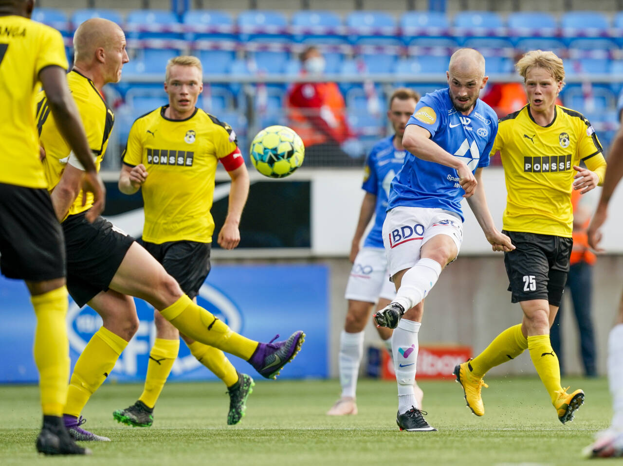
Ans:
[[[407,125],[426,128],[432,141],[462,158],[473,172],[489,164],[498,117],[480,99],[469,115],[457,112],[449,89],[445,88],[422,97]],[[454,168],[407,153],[402,169],[391,183],[388,210],[397,206],[434,207],[456,212],[465,220],[461,210],[463,194]]]

